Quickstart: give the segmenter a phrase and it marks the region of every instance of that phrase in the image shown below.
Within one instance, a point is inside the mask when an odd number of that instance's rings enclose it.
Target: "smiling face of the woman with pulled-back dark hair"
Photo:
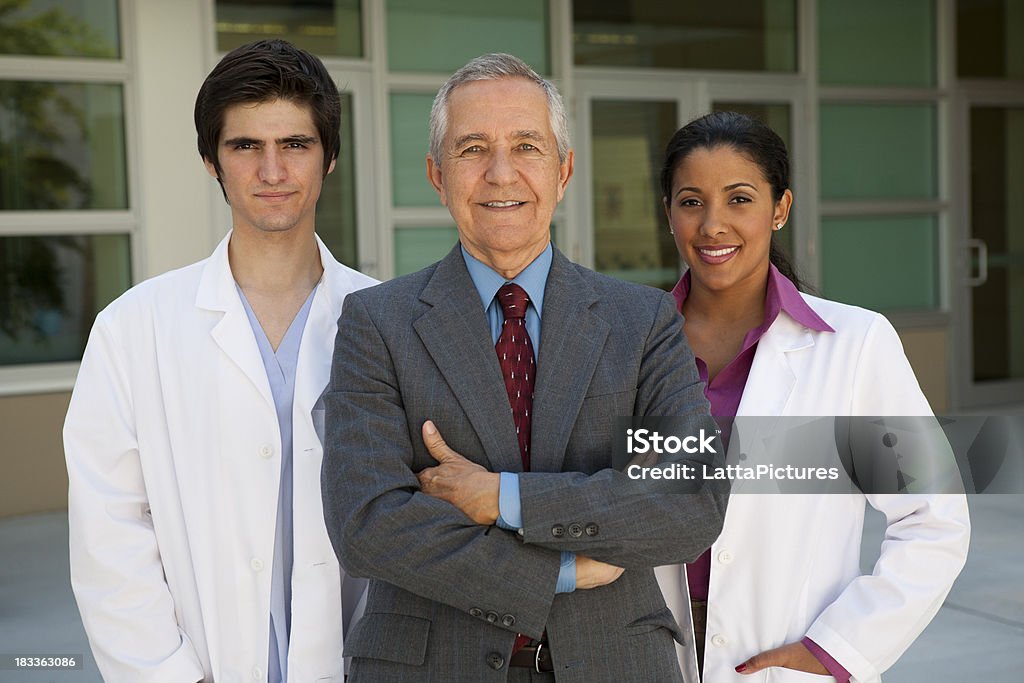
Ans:
[[[775,202],[761,168],[733,147],[687,155],[673,174],[666,212],[691,285],[764,287],[772,227],[785,223],[792,204],[788,189]]]

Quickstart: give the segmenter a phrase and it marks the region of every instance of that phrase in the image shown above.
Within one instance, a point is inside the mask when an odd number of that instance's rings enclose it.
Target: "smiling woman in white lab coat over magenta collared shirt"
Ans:
[[[798,291],[772,240],[793,194],[770,128],[734,113],[691,122],[669,142],[662,186],[689,266],[674,295],[716,417],[931,415],[885,317]],[[865,500],[887,530],[861,575]],[[702,664],[713,683],[878,681],[935,615],[968,540],[963,495],[734,493],[710,551],[658,569],[684,632],[696,627],[684,675]]]

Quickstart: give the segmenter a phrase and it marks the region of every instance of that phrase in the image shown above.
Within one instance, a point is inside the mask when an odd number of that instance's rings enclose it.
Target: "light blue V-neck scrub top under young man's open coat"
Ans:
[[[278,528],[273,535],[273,571],[270,580],[270,655],[267,663],[268,683],[288,681],[288,640],[292,626],[292,562],[294,559],[292,528],[292,404],[295,398],[295,371],[299,364],[299,344],[306,328],[309,308],[316,288],[295,315],[274,351],[260,326],[246,295],[239,290],[259,346],[270,393],[281,427],[281,492],[278,496]],[[340,644],[339,644],[340,648]]]

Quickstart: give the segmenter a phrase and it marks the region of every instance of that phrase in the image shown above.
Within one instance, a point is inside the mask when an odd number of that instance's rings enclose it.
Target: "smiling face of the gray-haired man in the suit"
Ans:
[[[572,152],[559,162],[547,97],[525,79],[466,83],[447,108],[441,161],[427,157],[427,175],[466,251],[514,276],[551,239]]]

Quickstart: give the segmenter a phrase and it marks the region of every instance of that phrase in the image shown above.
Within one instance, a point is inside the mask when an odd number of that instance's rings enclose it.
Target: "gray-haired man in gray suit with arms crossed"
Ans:
[[[612,468],[616,417],[715,430],[672,297],[552,247],[565,112],[516,57],[441,87],[427,172],[459,244],[346,298],[326,397],[329,532],[372,579],[349,681],[681,681],[651,567],[696,558],[727,495]]]

